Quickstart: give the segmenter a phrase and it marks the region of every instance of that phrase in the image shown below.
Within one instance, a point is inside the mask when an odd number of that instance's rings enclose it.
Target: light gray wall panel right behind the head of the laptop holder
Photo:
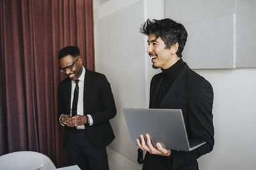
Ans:
[[[236,15],[185,24],[188,40],[182,54],[193,69],[234,68]]]

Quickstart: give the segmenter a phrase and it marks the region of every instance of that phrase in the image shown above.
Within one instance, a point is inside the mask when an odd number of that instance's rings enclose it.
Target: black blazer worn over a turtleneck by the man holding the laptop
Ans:
[[[150,108],[156,108],[154,100],[162,80],[163,73],[156,74],[152,78]],[[159,108],[181,109],[189,141],[206,141],[206,143],[191,152],[172,150],[169,158],[163,157],[167,160],[166,164],[169,167],[172,166],[170,169],[197,169],[196,159],[205,153],[211,152],[214,145],[212,103],[213,90],[211,84],[185,64],[163,97]],[[148,163],[147,157],[154,157],[154,155],[149,154],[145,157],[146,164]],[[159,160],[158,158],[156,160]],[[150,164],[159,163],[156,161]]]

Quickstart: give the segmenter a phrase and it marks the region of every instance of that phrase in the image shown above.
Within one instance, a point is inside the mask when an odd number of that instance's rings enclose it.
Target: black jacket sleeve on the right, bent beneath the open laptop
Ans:
[[[205,145],[191,152],[172,151],[173,169],[184,166],[211,152],[214,145],[214,127],[212,123],[213,90],[211,84],[202,80],[191,90],[188,103],[189,141],[205,141]]]

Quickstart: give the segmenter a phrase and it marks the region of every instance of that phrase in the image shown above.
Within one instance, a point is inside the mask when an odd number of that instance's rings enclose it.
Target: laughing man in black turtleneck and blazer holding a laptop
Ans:
[[[189,141],[205,141],[195,150],[183,152],[165,149],[160,143],[155,148],[148,134],[146,139],[141,135],[137,143],[142,150],[147,151],[143,170],[198,169],[196,159],[211,152],[214,145],[212,86],[181,59],[188,36],[182,24],[169,18],[148,19],[140,32],[148,36],[147,52],[152,66],[162,70],[151,80],[149,108],[181,109]]]

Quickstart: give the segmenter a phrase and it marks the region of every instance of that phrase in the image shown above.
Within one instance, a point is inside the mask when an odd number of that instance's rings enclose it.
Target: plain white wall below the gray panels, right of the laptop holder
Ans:
[[[215,145],[200,169],[255,169],[256,69],[197,69],[214,89]]]

